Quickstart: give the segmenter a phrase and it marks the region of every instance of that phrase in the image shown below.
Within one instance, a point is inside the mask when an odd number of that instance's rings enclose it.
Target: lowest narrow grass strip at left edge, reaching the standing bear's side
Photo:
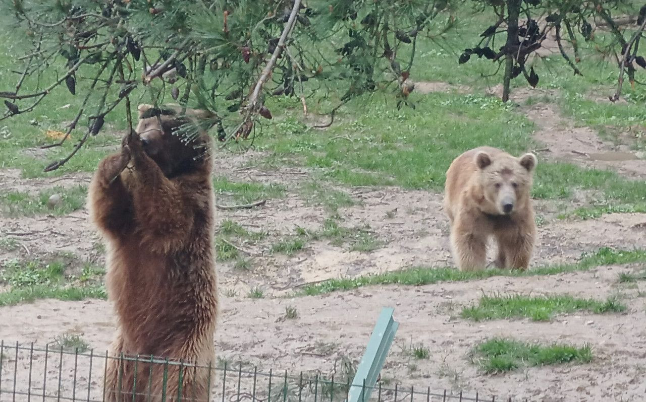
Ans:
[[[105,287],[100,286],[50,286],[35,285],[24,288],[12,288],[0,293],[0,307],[30,303],[38,299],[59,299],[80,301],[84,299],[107,299]]]

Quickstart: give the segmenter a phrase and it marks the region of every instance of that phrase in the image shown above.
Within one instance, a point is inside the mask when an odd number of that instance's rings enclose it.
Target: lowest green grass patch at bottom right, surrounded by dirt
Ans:
[[[590,363],[592,349],[590,345],[540,345],[496,337],[477,345],[473,350],[473,358],[484,372],[495,374],[520,367]]]

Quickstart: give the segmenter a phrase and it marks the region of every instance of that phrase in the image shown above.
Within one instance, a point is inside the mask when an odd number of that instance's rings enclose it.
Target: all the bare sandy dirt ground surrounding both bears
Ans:
[[[448,89],[434,83],[426,83],[425,88]],[[521,102],[530,95],[542,93],[519,90],[514,94],[514,100]],[[590,128],[577,127],[561,116],[556,106],[536,103],[524,110],[537,125],[536,139],[545,144],[543,150],[537,150],[539,163],[547,158],[567,160],[583,166],[612,168],[636,179],[646,176],[646,162],[626,156],[630,153],[629,148],[602,141]],[[616,152],[621,152],[621,157]],[[227,166],[220,172],[229,172],[227,177],[231,180],[280,183],[287,187],[286,197],[270,199],[264,206],[218,211],[218,223],[231,219],[248,230],[267,230],[269,239],[275,241],[293,233],[297,225],[318,228],[329,216],[324,207],[311,206],[306,197],[295,190],[300,183],[310,179],[306,170],[236,170],[242,168],[247,157],[222,155],[217,159],[218,166]],[[0,172],[0,192],[37,192],[50,186],[87,185],[89,178],[74,174],[54,183],[51,179],[22,179],[17,170],[5,169]],[[646,370],[644,299],[640,297],[639,288],[617,283],[620,272],[632,272],[636,266],[609,266],[558,276],[492,277],[426,286],[366,287],[297,299],[284,297],[298,286],[324,279],[375,274],[415,265],[452,264],[448,219],[441,207],[441,194],[399,188],[344,190],[357,202],[355,206],[339,209],[344,225],[367,225],[383,246],[371,252],[359,252],[318,240],[311,241],[293,256],[284,256],[269,253],[262,246],[268,243],[260,243],[253,249],[245,246],[247,252],[254,254],[254,267],[248,272],[236,270],[233,263],[219,263],[222,315],[216,332],[216,350],[223,361],[242,363],[245,367],[257,365],[265,371],[271,368],[297,374],[319,369],[324,374],[331,374],[342,357],[359,361],[380,309],[394,307],[395,320],[400,327],[381,374],[382,382],[388,383],[388,387],[414,385],[431,387],[440,393],[446,389],[453,394],[464,390],[473,395],[479,392],[488,400],[492,395],[541,401],[631,401],[643,397],[646,392],[646,384],[642,381]],[[581,193],[565,202],[572,208],[585,205],[588,197],[589,194]],[[557,201],[536,202],[541,225],[533,265],[574,262],[582,252],[602,246],[646,248],[646,229],[639,225],[646,223],[646,214],[607,214],[585,221],[557,219],[564,206]],[[19,248],[0,252],[0,261],[57,252],[69,252],[99,264],[103,261],[98,238],[84,209],[60,217],[3,216],[2,220],[0,236],[17,239]],[[258,286],[264,291],[263,299],[246,297],[250,289]],[[461,307],[477,301],[483,292],[568,293],[596,298],[620,294],[625,297],[629,310],[625,314],[607,316],[574,314],[556,317],[547,323],[524,319],[474,323],[457,318]],[[297,308],[296,319],[284,319],[287,306]],[[79,334],[99,353],[108,347],[114,328],[110,304],[97,300],[45,300],[3,307],[0,308],[0,323],[0,339],[6,343],[20,341],[26,345],[34,342],[44,346],[60,334],[71,333]],[[472,364],[469,352],[475,343],[491,336],[513,336],[545,343],[590,343],[595,358],[587,365],[485,375]],[[430,349],[428,359],[417,360],[411,356],[411,345],[418,343]],[[18,379],[22,378],[26,383],[28,353],[19,355],[19,363],[10,353],[7,361],[20,367]],[[37,364],[43,364],[43,354],[35,356]],[[79,367],[87,367],[87,358],[82,360]],[[7,377],[12,374],[13,367],[5,364],[1,371],[4,377],[0,379],[3,387],[0,388],[0,401],[4,401],[2,391],[13,384],[13,378]],[[72,371],[68,370],[68,381],[63,380],[63,388],[67,390],[71,387]],[[101,370],[95,370],[95,373],[98,377],[94,380],[84,377],[85,374],[78,378],[79,387],[91,388],[93,395],[100,385]]]

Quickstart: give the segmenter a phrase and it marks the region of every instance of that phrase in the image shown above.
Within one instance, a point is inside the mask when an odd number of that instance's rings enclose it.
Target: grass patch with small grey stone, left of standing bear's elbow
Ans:
[[[50,196],[57,194],[59,201],[50,205]],[[66,215],[85,206],[87,188],[72,186],[54,187],[41,190],[32,196],[26,192],[6,192],[0,196],[0,206],[8,214],[32,216],[37,214]]]

